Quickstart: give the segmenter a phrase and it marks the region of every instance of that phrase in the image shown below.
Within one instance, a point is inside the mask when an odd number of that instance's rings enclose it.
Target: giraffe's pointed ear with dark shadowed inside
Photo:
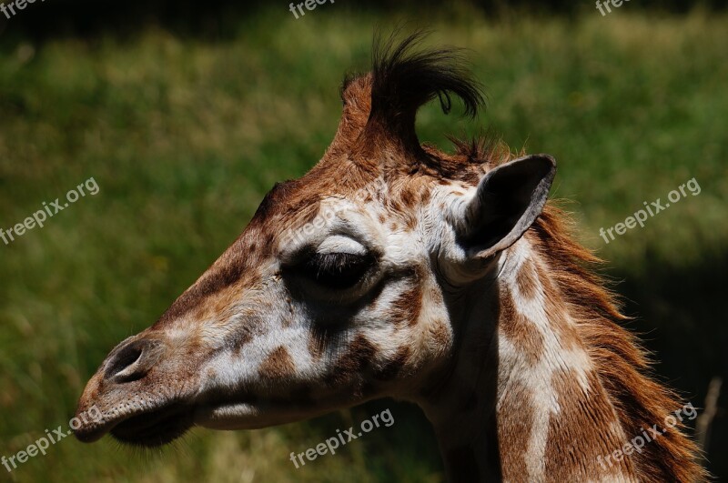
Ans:
[[[532,155],[483,176],[456,228],[468,258],[482,260],[511,247],[541,215],[555,175],[553,157]]]

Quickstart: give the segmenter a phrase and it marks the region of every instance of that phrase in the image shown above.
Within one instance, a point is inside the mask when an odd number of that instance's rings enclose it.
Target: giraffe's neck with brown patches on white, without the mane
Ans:
[[[455,366],[423,405],[450,481],[636,481],[629,458],[604,462],[627,439],[528,239],[495,273],[453,304],[469,307]]]

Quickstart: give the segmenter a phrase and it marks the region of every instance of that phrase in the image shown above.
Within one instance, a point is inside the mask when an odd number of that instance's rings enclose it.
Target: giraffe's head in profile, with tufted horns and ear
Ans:
[[[457,51],[413,52],[419,40],[375,49],[372,72],[342,87],[319,164],[275,186],[157,323],[111,351],[77,409],[102,417],[78,438],[154,446],[193,426],[262,428],[376,397],[417,400],[447,377],[459,294],[540,215],[555,165],[420,146],[420,106],[439,97],[447,112],[454,95],[474,115],[482,96]]]

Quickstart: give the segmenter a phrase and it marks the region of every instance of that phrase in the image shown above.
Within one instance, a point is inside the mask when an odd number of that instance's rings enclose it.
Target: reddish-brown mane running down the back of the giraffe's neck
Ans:
[[[682,408],[681,398],[656,380],[652,357],[637,337],[619,323],[629,320],[620,310],[619,297],[598,269],[603,261],[571,236],[570,216],[550,201],[526,236],[545,260],[552,280],[569,307],[577,331],[593,361],[602,386],[615,409],[624,434],[631,439]],[[704,481],[702,457],[678,421],[674,430],[633,453],[642,480]],[[685,462],[688,461],[688,464]]]

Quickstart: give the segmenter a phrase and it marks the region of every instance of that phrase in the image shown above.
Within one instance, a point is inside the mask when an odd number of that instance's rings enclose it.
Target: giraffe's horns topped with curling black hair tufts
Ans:
[[[387,38],[380,32],[375,35],[369,73],[347,75],[340,87],[344,114],[330,154],[337,153],[339,146],[362,154],[371,152],[370,146],[381,152],[382,146],[395,144],[421,162],[426,156],[415,133],[420,106],[438,98],[448,114],[452,96],[456,96],[470,117],[485,106],[481,86],[467,67],[463,50],[420,49],[427,34],[420,30],[403,40],[398,40],[399,30]]]

